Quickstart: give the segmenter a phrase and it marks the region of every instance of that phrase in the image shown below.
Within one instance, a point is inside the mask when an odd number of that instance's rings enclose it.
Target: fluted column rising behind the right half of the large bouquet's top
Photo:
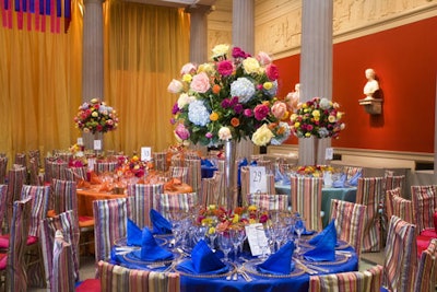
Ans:
[[[255,0],[233,1],[232,38],[233,46],[255,55]],[[237,157],[250,157],[253,150],[250,140],[241,140],[237,145]]]

